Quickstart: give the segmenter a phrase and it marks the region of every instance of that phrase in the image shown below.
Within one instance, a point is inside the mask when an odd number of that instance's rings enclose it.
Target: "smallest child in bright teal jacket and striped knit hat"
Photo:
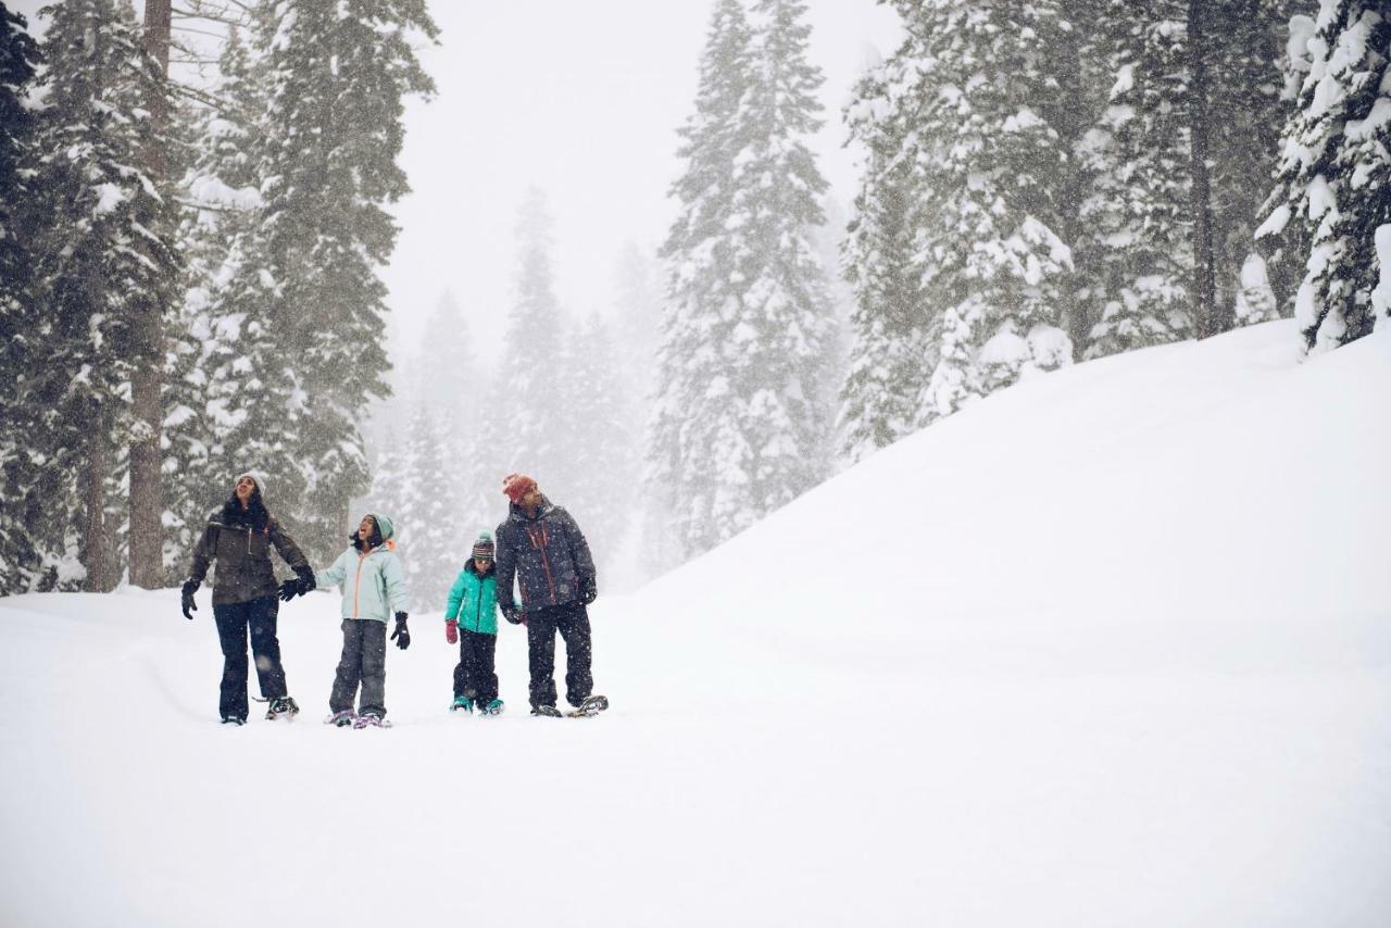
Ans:
[[[459,664],[453,668],[453,704],[449,711],[497,715],[498,675],[494,655],[498,644],[498,582],[492,536],[487,531],[473,543],[473,557],[449,589],[444,614],[444,639],[459,644]]]

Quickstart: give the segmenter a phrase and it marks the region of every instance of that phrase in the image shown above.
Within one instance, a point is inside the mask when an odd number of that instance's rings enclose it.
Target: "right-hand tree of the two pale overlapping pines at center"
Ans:
[[[822,125],[821,70],[807,61],[803,0],[758,0],[754,81],[739,121],[750,143],[734,159],[736,352],[726,366],[739,398],[739,479],[716,518],[729,537],[815,487],[829,470],[833,417],[822,402],[833,314],[815,234],[826,181],[807,142]],[[730,459],[736,462],[737,459]],[[747,480],[746,480],[747,477]]]

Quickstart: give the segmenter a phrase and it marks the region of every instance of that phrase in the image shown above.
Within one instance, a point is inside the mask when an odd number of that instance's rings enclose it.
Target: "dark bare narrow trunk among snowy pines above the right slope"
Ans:
[[[1224,324],[1217,306],[1216,256],[1213,255],[1213,198],[1209,164],[1209,4],[1210,0],[1188,3],[1188,54],[1192,71],[1189,86],[1189,160],[1193,174],[1193,327],[1199,338],[1207,338],[1231,328]]]

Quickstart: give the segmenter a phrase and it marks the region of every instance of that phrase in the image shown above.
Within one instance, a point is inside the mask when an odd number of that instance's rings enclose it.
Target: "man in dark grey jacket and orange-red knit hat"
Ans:
[[[551,505],[531,477],[509,474],[502,493],[510,505],[497,530],[497,595],[508,622],[526,623],[531,714],[561,714],[555,708],[556,632],[565,639],[565,700],[583,714],[598,711],[608,700],[591,696],[593,639],[584,607],[598,595],[598,582],[590,545],[570,513]],[[520,605],[513,600],[513,582]]]

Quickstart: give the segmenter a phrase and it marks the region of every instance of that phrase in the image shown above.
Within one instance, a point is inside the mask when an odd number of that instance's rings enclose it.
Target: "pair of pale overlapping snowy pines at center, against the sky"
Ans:
[[[682,213],[651,440],[654,486],[686,554],[815,486],[828,470],[830,305],[814,230],[826,184],[805,138],[821,72],[796,0],[718,3],[696,114],[683,129]]]

